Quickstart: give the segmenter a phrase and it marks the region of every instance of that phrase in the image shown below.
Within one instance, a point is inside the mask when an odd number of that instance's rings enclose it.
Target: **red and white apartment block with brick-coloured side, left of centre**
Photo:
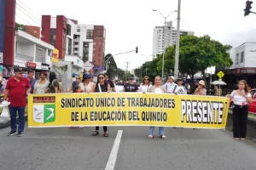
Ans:
[[[60,59],[66,54],[90,61],[96,70],[103,70],[106,30],[104,26],[78,24],[65,16],[42,16],[42,40],[59,49]]]

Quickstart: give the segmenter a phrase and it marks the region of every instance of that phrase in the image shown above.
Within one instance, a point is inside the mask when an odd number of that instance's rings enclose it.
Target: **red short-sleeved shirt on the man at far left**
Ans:
[[[30,88],[30,83],[27,78],[21,78],[20,82],[15,80],[15,77],[10,77],[7,81],[5,89],[9,90],[9,102],[13,107],[26,106],[26,91]]]

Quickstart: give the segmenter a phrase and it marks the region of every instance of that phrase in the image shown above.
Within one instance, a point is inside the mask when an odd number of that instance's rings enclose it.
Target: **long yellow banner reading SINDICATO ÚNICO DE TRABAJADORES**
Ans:
[[[31,94],[28,127],[162,126],[224,128],[229,99],[214,96]]]

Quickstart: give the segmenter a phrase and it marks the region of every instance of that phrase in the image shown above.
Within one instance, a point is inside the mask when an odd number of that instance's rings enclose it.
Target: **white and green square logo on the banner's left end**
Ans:
[[[34,122],[55,122],[55,105],[33,105]]]

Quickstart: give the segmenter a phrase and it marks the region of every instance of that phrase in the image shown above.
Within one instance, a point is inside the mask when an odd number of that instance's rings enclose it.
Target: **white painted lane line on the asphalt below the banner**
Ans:
[[[107,162],[107,165],[105,167],[105,170],[113,170],[114,169],[115,161],[117,159],[117,155],[118,155],[118,152],[119,152],[119,145],[120,145],[120,142],[121,142],[122,134],[123,134],[123,130],[119,130],[117,135],[116,135],[116,138],[113,142],[113,147],[112,147],[111,153],[108,157],[108,162]]]

